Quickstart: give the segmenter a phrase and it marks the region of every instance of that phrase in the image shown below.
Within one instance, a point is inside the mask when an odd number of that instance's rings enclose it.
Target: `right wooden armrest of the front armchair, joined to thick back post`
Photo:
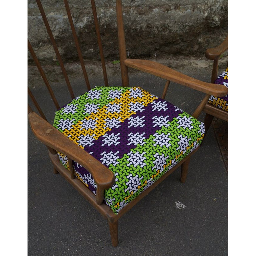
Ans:
[[[124,64],[127,67],[135,68],[140,71],[159,76],[166,80],[185,85],[206,94],[215,95],[218,97],[226,96],[228,94],[228,88],[224,85],[202,82],[155,61],[126,59],[124,60]]]

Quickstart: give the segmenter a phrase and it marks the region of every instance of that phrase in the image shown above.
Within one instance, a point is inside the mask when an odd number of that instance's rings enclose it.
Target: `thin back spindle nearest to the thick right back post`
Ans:
[[[102,43],[101,43],[101,38],[100,38],[100,26],[99,26],[95,1],[91,0],[91,3],[92,3],[92,12],[93,12],[94,24],[95,24],[96,34],[97,34],[97,40],[98,40],[98,45],[99,45],[99,50],[100,50],[100,59],[101,59],[103,76],[104,76],[104,82],[105,82],[105,86],[108,86],[108,76],[107,76],[106,64],[105,64],[103,48],[102,48]]]

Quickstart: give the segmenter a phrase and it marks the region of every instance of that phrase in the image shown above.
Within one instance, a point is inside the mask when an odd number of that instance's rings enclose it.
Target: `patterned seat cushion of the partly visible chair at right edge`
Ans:
[[[223,84],[228,87],[228,68],[217,77],[214,84]],[[228,94],[225,97],[211,96],[209,103],[228,112]]]

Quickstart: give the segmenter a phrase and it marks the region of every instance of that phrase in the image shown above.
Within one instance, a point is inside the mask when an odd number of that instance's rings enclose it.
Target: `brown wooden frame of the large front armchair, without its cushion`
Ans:
[[[74,93],[72,91],[71,85],[68,80],[68,76],[66,73],[66,70],[64,68],[63,62],[61,60],[56,42],[52,36],[52,32],[50,29],[50,26],[48,24],[46,15],[44,13],[44,9],[42,7],[42,4],[40,0],[36,0],[39,10],[41,12],[41,15],[43,17],[45,26],[47,28],[48,34],[50,36],[50,39],[52,41],[54,50],[56,52],[57,58],[60,62],[60,68],[63,72],[63,75],[65,77],[68,90],[70,92],[71,98],[74,99]],[[72,34],[74,37],[74,41],[76,44],[76,49],[78,52],[79,60],[81,62],[85,83],[87,85],[88,90],[90,90],[90,84],[89,80],[86,74],[86,70],[84,67],[84,61],[82,58],[82,53],[78,44],[78,39],[76,36],[75,27],[73,24],[73,20],[71,17],[70,9],[68,6],[68,1],[64,0],[65,7],[68,13],[68,19],[70,22],[70,26],[72,29]],[[108,86],[108,80],[107,80],[107,73],[106,73],[106,67],[104,62],[104,56],[103,56],[103,50],[101,45],[101,39],[100,39],[100,30],[99,30],[99,23],[97,19],[97,13],[95,8],[94,0],[91,0],[92,3],[92,11],[95,21],[95,27],[97,32],[97,39],[98,44],[100,48],[100,56],[101,56],[101,63],[103,68],[103,75],[104,75],[104,81],[105,85]],[[165,86],[164,86],[164,92],[163,92],[163,98],[165,97],[165,94],[167,92],[168,86],[170,84],[170,81],[185,85],[187,87],[193,88],[195,90],[201,91],[206,93],[204,99],[199,104],[199,106],[196,108],[195,112],[193,113],[193,116],[195,118],[198,118],[200,113],[205,107],[205,104],[207,103],[209,97],[211,94],[218,95],[218,96],[225,96],[227,94],[227,88],[223,85],[218,84],[210,84],[205,83],[202,81],[199,81],[197,79],[194,79],[192,77],[186,76],[184,74],[181,74],[180,72],[177,72],[173,70],[172,68],[168,68],[162,64],[156,63],[154,61],[149,60],[136,60],[136,59],[127,59],[126,56],[126,47],[125,47],[125,38],[124,38],[124,25],[123,25],[123,11],[122,11],[122,2],[121,0],[116,0],[116,15],[117,15],[117,32],[118,32],[118,44],[119,44],[119,55],[120,55],[120,65],[121,65],[121,77],[122,77],[122,85],[123,86],[129,86],[129,78],[128,78],[128,67],[135,68],[138,70],[141,70],[143,72],[164,78],[166,80]],[[54,104],[56,108],[59,108],[59,104],[54,96],[54,93],[51,89],[51,86],[44,74],[44,71],[36,58],[36,54],[33,51],[33,48],[31,44],[28,41],[28,49],[32,54],[33,59],[36,62],[36,65],[40,71],[40,74],[42,78],[44,79],[44,82],[48,88],[48,91],[50,92],[50,95],[52,96],[52,99],[54,101]],[[124,215],[129,209],[132,208],[136,203],[138,203],[144,196],[146,196],[153,188],[155,188],[162,180],[164,180],[167,176],[169,176],[175,169],[177,169],[181,165],[181,182],[185,182],[187,173],[188,173],[188,164],[190,156],[192,156],[198,149],[194,150],[192,153],[190,153],[187,157],[185,157],[182,161],[180,161],[177,165],[175,165],[171,170],[166,172],[159,180],[157,180],[155,183],[153,183],[149,188],[147,188],[145,191],[143,191],[139,196],[137,196],[134,200],[132,200],[129,204],[127,204],[123,209],[120,210],[120,212],[116,215],[110,207],[108,207],[106,204],[103,204],[104,199],[104,190],[111,188],[115,184],[115,176],[113,172],[111,172],[106,166],[101,164],[97,159],[95,159],[93,156],[91,156],[89,153],[84,151],[82,148],[77,146],[73,141],[68,139],[64,134],[62,134],[60,131],[55,129],[52,124],[48,123],[46,120],[46,117],[44,116],[44,113],[38,103],[36,102],[35,97],[33,96],[32,92],[28,88],[28,94],[31,97],[32,101],[34,102],[38,112],[40,113],[41,117],[37,115],[30,106],[28,106],[28,120],[29,124],[31,126],[31,129],[33,133],[35,134],[36,138],[43,142],[49,152],[50,159],[53,164],[53,172],[54,173],[60,173],[74,188],[76,188],[77,191],[79,191],[82,196],[84,196],[95,209],[97,209],[107,220],[109,224],[110,229],[110,236],[112,240],[113,246],[117,246],[118,239],[117,239],[117,221],[120,217]],[[64,155],[68,157],[68,162],[70,166],[70,172],[60,163],[59,157],[57,155],[57,151],[60,151]],[[72,160],[76,161],[77,163],[81,164],[84,168],[86,168],[91,174],[92,177],[97,184],[97,192],[96,196],[86,187],[84,184],[75,178],[74,170],[72,167]]]

